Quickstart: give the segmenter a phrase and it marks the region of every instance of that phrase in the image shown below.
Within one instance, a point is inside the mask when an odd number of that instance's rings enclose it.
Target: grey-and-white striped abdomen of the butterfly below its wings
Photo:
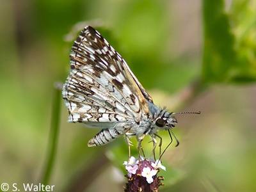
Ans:
[[[102,129],[91,140],[88,141],[88,147],[95,147],[105,145],[115,138],[118,138],[122,132],[118,132],[116,129]]]

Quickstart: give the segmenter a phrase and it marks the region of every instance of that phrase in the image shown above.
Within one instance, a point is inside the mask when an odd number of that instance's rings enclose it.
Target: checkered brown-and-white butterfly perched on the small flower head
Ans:
[[[157,131],[177,124],[175,113],[154,104],[122,56],[91,26],[76,38],[70,68],[62,90],[68,122],[101,128],[88,147],[105,145],[124,135],[129,147],[129,138],[136,136],[140,148],[149,135],[156,148],[156,137],[161,139]]]

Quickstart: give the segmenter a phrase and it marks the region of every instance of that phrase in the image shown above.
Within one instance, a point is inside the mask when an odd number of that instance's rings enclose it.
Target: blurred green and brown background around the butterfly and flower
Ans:
[[[42,181],[58,118],[53,84],[65,81],[72,41],[90,24],[157,105],[202,111],[178,117],[180,145],[164,154],[161,191],[256,191],[255,8],[255,0],[1,0],[0,183]],[[124,140],[88,148],[99,130],[68,124],[58,100],[48,183],[55,191],[122,191]],[[168,134],[159,134],[167,145]]]

